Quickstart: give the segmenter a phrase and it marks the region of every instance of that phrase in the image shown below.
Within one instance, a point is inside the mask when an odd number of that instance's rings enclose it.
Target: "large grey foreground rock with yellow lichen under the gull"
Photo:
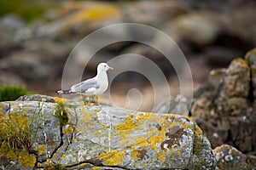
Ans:
[[[31,145],[12,149],[8,142],[1,144],[0,167],[7,169],[215,169],[209,141],[188,116],[85,106],[40,95],[2,102],[0,114],[0,133],[9,133],[6,122],[19,132],[31,129]]]

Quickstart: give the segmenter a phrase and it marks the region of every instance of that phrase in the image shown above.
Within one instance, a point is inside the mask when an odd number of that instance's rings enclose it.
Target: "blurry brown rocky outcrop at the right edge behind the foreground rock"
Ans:
[[[243,153],[255,153],[256,111],[254,50],[246,59],[234,59],[227,69],[211,71],[209,82],[195,92],[191,115],[215,148],[235,145]]]

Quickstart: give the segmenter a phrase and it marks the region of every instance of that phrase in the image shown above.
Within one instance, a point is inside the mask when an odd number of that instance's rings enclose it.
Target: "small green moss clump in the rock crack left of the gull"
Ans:
[[[66,111],[67,104],[64,102],[57,102],[55,116],[59,118],[61,126],[67,125],[68,116]]]

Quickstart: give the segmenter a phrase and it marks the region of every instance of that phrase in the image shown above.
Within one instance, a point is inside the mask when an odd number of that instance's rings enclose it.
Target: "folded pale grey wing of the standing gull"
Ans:
[[[96,82],[96,78],[91,78],[85,80],[84,82],[80,82],[71,87],[71,91],[73,93],[84,93],[89,88],[100,88],[100,86]]]

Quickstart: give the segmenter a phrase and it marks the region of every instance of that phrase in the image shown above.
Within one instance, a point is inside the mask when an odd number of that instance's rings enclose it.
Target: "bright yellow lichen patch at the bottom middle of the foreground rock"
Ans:
[[[119,165],[125,158],[125,150],[112,150],[107,153],[102,153],[98,158],[102,159],[108,166],[117,166]]]

